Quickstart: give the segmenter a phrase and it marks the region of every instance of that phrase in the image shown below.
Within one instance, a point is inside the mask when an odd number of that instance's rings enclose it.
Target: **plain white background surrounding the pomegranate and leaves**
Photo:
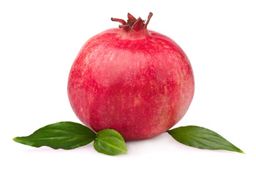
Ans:
[[[255,9],[254,1],[1,1],[0,174],[255,174]],[[192,63],[195,97],[174,128],[209,128],[246,155],[187,147],[167,133],[129,141],[128,155],[116,157],[93,144],[66,151],[12,141],[50,123],[80,123],[67,98],[69,69],[87,39],[127,12],[153,12],[148,28]]]

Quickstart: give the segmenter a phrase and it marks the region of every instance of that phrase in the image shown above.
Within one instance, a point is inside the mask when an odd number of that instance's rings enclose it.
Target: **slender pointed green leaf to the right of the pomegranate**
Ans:
[[[231,144],[218,133],[195,125],[174,128],[167,131],[173,139],[189,147],[199,149],[225,149],[233,152],[244,153],[241,149]]]

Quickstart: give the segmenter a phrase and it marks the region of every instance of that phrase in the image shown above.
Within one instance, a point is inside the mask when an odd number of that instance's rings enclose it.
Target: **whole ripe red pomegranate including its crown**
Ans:
[[[111,128],[126,141],[173,127],[194,96],[192,66],[169,37],[128,20],[89,39],[69,73],[69,101],[80,121],[98,132]]]

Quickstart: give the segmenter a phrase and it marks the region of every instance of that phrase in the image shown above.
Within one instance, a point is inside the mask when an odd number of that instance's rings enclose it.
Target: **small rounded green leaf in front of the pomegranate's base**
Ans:
[[[120,133],[113,129],[99,131],[94,140],[94,149],[105,155],[125,155],[127,146]]]

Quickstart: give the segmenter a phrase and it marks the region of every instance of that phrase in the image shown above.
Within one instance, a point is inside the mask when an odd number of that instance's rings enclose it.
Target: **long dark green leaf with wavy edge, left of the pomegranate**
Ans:
[[[96,133],[85,125],[60,122],[46,125],[30,136],[15,137],[13,140],[32,147],[48,146],[53,149],[74,149],[94,141]]]

